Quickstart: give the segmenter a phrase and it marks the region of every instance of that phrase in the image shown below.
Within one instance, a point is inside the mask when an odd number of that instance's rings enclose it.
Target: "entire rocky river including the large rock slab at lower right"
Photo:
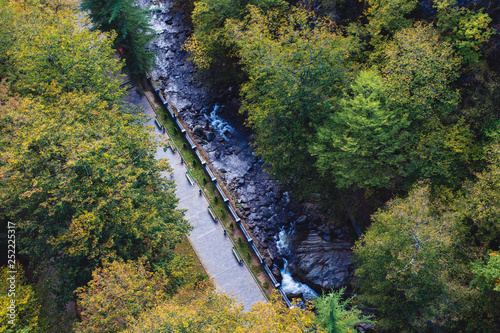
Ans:
[[[315,293],[300,282],[316,292],[348,284],[354,268],[347,228],[324,223],[314,205],[293,202],[289,192],[263,170],[263,161],[249,144],[248,129],[224,106],[237,107],[237,96],[231,89],[210,91],[196,80],[182,48],[190,28],[183,14],[172,8],[172,0],[140,0],[140,4],[153,9],[151,23],[158,35],[151,46],[157,53],[153,79],[234,196],[238,214],[282,279],[285,292],[311,298]]]

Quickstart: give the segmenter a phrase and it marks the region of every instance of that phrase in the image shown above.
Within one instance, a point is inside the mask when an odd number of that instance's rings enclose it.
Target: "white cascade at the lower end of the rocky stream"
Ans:
[[[276,247],[278,252],[282,256],[290,255],[289,251],[289,239],[285,229],[282,229],[278,234],[278,239],[276,240]],[[308,285],[295,281],[292,274],[288,270],[288,261],[283,258],[284,266],[280,270],[283,281],[281,282],[281,287],[283,291],[287,294],[299,294],[302,293],[303,298],[306,300],[312,300],[318,296],[318,294],[312,290]]]

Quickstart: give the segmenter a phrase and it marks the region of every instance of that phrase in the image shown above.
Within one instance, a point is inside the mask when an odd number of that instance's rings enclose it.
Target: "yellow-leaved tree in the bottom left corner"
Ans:
[[[10,273],[16,271],[17,273]],[[11,279],[14,277],[14,279]],[[11,285],[15,287],[12,288]],[[28,283],[24,269],[16,264],[15,269],[4,266],[0,270],[0,332],[32,332],[38,326],[40,302],[35,295],[35,288]],[[8,316],[11,300],[15,300],[15,325],[9,323],[12,319]]]

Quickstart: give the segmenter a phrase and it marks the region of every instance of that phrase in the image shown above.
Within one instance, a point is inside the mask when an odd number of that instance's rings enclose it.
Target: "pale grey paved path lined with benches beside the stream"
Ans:
[[[155,127],[157,139],[162,135],[154,121],[154,111],[145,96],[139,96],[135,88],[129,90],[128,101],[141,105],[145,114],[153,118],[147,125]],[[250,310],[253,304],[266,301],[259,285],[254,280],[248,268],[238,264],[233,255],[233,244],[229,236],[224,236],[222,226],[214,222],[208,212],[208,202],[205,196],[199,195],[199,187],[191,185],[186,178],[186,167],[181,164],[178,153],[171,149],[166,152],[159,147],[156,158],[166,158],[173,168],[173,178],[176,184],[176,194],[179,198],[179,208],[186,209],[185,217],[193,226],[188,238],[205,267],[207,274],[214,279],[218,291],[232,295],[241,301],[245,310]],[[168,177],[167,173],[164,177]]]

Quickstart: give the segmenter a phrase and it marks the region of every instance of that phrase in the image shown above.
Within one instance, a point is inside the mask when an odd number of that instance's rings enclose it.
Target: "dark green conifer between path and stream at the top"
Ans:
[[[154,53],[147,47],[154,39],[146,11],[134,0],[84,0],[82,9],[90,10],[95,27],[101,31],[115,31],[113,46],[123,51],[125,68],[134,77],[149,71]]]

